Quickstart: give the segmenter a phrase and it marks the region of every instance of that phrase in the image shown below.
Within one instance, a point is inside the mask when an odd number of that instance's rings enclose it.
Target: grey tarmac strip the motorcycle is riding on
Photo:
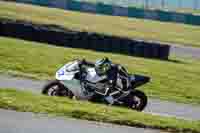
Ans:
[[[0,75],[0,88],[16,88],[40,93],[41,88],[46,83],[47,81],[36,81]],[[182,119],[200,120],[200,106],[160,101],[156,99],[149,99],[148,106],[144,112]]]

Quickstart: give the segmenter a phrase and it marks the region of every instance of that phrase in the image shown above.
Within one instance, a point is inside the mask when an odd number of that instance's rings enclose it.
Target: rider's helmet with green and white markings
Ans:
[[[105,75],[111,69],[112,62],[108,58],[97,60],[95,63],[95,71],[98,75]]]

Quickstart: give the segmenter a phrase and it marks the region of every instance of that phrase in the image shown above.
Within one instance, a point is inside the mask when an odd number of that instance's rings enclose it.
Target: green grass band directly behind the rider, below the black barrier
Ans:
[[[150,76],[151,83],[141,87],[148,97],[200,104],[199,60],[160,61],[0,37],[0,71],[37,79],[54,79],[56,70],[72,59],[105,56],[130,73]]]

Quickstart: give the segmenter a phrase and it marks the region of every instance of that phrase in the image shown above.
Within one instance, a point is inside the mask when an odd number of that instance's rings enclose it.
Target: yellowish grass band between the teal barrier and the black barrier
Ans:
[[[0,18],[56,24],[78,31],[200,47],[200,26],[95,15],[2,1],[0,2]]]

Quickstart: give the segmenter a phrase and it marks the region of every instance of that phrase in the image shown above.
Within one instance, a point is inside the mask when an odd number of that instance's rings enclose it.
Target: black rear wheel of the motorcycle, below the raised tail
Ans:
[[[137,111],[142,111],[147,105],[147,96],[139,90],[134,90],[128,98],[128,106]]]

